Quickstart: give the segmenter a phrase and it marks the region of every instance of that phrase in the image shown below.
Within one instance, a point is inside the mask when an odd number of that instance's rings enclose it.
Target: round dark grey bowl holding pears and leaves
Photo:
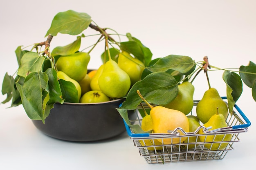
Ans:
[[[116,108],[125,99],[94,104],[54,104],[45,124],[32,120],[36,128],[50,137],[67,141],[99,141],[126,131],[124,121]],[[135,118],[134,110],[128,111]]]

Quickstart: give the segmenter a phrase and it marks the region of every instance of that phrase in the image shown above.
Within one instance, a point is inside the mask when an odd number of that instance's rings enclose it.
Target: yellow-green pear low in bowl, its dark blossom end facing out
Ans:
[[[100,103],[108,101],[110,101],[110,98],[102,93],[102,91],[88,91],[81,97],[79,103]]]

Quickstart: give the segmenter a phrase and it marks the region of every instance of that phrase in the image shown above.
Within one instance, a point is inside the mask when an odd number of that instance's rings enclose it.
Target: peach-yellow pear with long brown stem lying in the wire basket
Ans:
[[[179,110],[155,106],[150,110],[153,121],[153,133],[168,133],[168,130],[174,130],[177,127],[189,132],[189,120],[184,113]],[[181,132],[180,132],[181,133]],[[187,137],[163,138],[164,144],[177,144],[186,140]],[[162,143],[162,139],[157,139]]]

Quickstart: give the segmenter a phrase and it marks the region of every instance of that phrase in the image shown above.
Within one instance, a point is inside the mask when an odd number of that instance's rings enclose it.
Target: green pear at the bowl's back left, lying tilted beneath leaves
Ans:
[[[79,52],[67,56],[61,56],[56,62],[58,71],[63,71],[70,78],[81,81],[87,74],[87,66],[90,61],[88,53]]]

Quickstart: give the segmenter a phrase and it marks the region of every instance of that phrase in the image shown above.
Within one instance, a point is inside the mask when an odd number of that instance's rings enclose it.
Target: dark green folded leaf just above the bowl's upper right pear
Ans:
[[[151,61],[153,55],[150,49],[144,46],[140,40],[132,37],[129,33],[127,33],[127,37],[129,41],[121,42],[121,49],[127,51],[128,53],[131,53],[132,55],[134,55],[135,58],[139,59],[145,64],[145,66],[147,66],[148,63]]]

